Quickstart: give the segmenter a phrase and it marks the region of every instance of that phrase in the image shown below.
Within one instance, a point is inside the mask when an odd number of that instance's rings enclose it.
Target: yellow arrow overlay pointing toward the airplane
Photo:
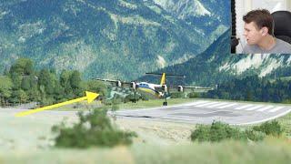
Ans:
[[[68,105],[68,104],[73,104],[75,102],[84,101],[84,100],[87,100],[88,103],[91,103],[98,96],[99,96],[99,94],[85,91],[85,97],[76,98],[76,99],[65,101],[62,103],[58,103],[58,104],[55,104],[52,106],[47,106],[44,108],[35,108],[35,109],[24,111],[24,112],[19,112],[15,115],[15,117],[24,117],[24,116],[27,116],[27,115],[30,115],[30,114],[33,114],[36,112],[43,111],[43,110],[47,110],[47,109],[51,109],[51,108],[59,108],[59,107],[62,107],[62,106]]]

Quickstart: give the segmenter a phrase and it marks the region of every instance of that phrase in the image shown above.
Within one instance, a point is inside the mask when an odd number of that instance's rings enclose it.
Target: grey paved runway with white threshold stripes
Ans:
[[[248,125],[279,118],[290,111],[291,106],[282,104],[196,100],[169,107],[120,110],[115,115],[119,118],[144,118],[193,124],[211,124],[216,120],[231,125]]]

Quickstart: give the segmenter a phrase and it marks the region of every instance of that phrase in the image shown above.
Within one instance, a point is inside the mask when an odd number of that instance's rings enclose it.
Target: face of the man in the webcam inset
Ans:
[[[257,29],[254,22],[249,24],[245,23],[244,36],[246,36],[246,42],[248,45],[256,45],[263,37],[261,30]]]

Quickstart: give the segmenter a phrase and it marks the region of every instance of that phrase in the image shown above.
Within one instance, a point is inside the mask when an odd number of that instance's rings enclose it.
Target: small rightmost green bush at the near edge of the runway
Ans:
[[[266,133],[266,135],[272,135],[276,137],[281,136],[281,134],[283,133],[283,128],[276,120],[273,120],[271,122],[265,122],[260,126],[255,126],[253,129],[256,131],[264,132]]]

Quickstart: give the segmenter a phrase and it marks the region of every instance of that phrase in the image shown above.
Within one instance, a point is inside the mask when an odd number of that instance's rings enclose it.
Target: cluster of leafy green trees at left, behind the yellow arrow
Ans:
[[[63,70],[60,75],[54,69],[36,71],[34,63],[20,58],[0,76],[0,105],[16,105],[39,102],[51,105],[75,97],[85,96],[85,90],[105,95],[107,88],[95,80],[84,81],[76,70]]]

